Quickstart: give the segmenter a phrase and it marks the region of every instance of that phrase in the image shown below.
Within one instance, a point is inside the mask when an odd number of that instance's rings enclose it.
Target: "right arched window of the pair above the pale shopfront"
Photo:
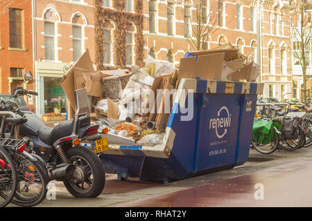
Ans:
[[[83,54],[83,25],[85,21],[80,14],[76,14],[72,19],[73,23],[73,61],[77,61]]]

